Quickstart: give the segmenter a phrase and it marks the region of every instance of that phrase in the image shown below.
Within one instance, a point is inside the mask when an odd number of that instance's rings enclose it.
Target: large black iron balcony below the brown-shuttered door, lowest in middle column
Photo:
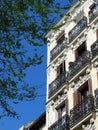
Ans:
[[[84,98],[81,103],[77,104],[72,110],[70,110],[70,126],[75,126],[81,120],[90,115],[94,110],[94,98],[92,95],[89,95]]]

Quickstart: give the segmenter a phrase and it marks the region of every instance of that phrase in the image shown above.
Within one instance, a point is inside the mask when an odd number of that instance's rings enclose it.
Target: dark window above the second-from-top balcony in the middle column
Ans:
[[[84,42],[82,45],[80,45],[78,47],[78,49],[76,50],[75,52],[75,57],[76,57],[76,60],[78,59],[79,56],[81,56],[85,51],[86,51],[86,43]]]

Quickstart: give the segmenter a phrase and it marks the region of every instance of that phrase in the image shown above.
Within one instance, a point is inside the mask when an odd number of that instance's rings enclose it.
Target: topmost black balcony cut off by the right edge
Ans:
[[[91,23],[98,16],[98,4],[93,4],[89,11],[89,23]]]

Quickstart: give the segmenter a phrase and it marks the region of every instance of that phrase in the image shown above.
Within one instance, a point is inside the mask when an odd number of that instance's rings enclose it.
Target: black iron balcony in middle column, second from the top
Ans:
[[[78,72],[80,72],[84,67],[86,67],[91,60],[91,55],[89,51],[85,51],[79,58],[69,66],[68,79],[73,78]]]

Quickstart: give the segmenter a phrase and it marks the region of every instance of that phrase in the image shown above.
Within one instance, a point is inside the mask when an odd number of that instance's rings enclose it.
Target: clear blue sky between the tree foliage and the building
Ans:
[[[62,2],[68,2],[65,0]],[[31,48],[28,48],[29,50]],[[26,81],[30,85],[42,85],[38,89],[38,93],[46,94],[46,67],[47,67],[47,47],[46,45],[40,48],[39,53],[43,51],[44,59],[43,63],[37,67],[30,68],[27,71]],[[30,50],[32,53],[32,49]],[[45,111],[46,97],[37,97],[31,102],[21,102],[14,106],[15,110],[19,113],[20,119],[5,117],[0,119],[0,130],[18,130],[22,125],[29,123],[32,120],[37,119]]]

